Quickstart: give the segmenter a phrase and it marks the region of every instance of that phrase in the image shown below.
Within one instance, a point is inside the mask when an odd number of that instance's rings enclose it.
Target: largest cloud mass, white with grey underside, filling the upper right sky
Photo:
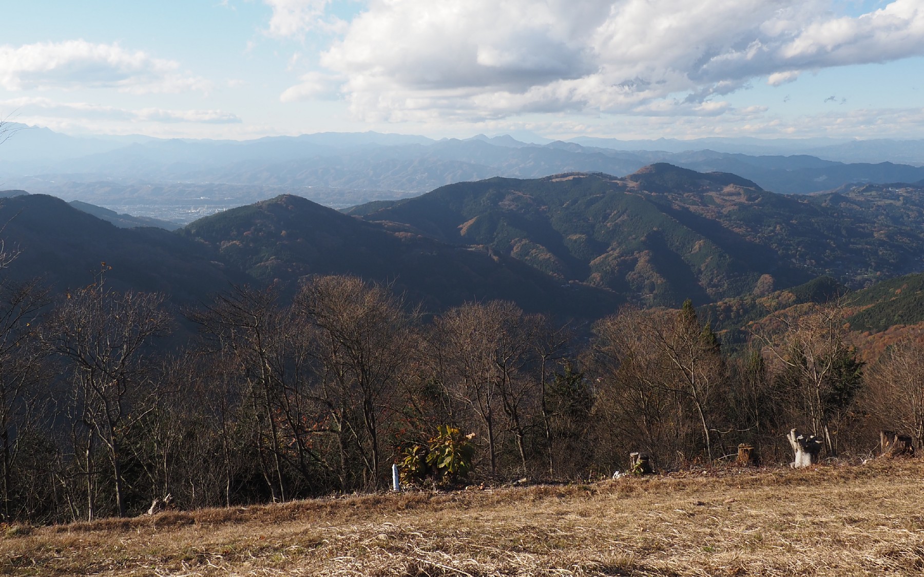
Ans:
[[[326,0],[264,0],[277,33]],[[894,0],[859,17],[829,0],[371,0],[321,64],[345,77],[368,120],[490,119],[529,112],[646,114],[800,70],[924,54],[924,6]],[[288,15],[284,20],[277,20]],[[306,23],[309,22],[309,23]],[[311,80],[299,85],[311,92]],[[298,87],[286,91],[297,99]],[[682,114],[685,110],[676,108]]]

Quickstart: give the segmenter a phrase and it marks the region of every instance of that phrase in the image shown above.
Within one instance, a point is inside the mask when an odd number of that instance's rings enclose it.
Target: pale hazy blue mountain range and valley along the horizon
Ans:
[[[22,129],[0,146],[0,182],[188,223],[279,194],[346,208],[460,181],[565,172],[622,176],[658,162],[730,172],[782,193],[924,180],[924,167],[914,166],[924,164],[924,141],[529,140],[479,135],[433,141],[366,132],[201,141],[77,138]],[[894,164],[898,161],[909,164]]]

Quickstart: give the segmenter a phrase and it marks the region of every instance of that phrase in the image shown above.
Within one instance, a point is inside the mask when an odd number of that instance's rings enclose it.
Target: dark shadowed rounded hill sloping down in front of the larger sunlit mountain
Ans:
[[[357,275],[393,283],[434,312],[464,301],[505,299],[531,311],[599,316],[619,302],[611,291],[562,283],[488,248],[390,231],[293,195],[201,218],[181,234],[264,281],[292,288],[304,276]]]

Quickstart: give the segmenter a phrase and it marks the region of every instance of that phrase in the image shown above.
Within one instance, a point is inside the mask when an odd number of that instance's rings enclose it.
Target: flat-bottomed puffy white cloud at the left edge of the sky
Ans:
[[[172,60],[117,43],[83,40],[0,46],[0,86],[8,91],[118,88],[124,92],[207,92],[207,80],[179,71]]]

